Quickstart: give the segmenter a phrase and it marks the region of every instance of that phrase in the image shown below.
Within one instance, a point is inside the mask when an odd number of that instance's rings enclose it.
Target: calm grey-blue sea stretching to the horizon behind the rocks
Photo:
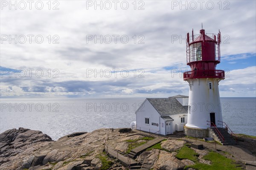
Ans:
[[[130,127],[145,98],[0,99],[0,133],[40,130],[53,140],[74,132]],[[256,98],[221,98],[223,121],[233,133],[256,136]]]

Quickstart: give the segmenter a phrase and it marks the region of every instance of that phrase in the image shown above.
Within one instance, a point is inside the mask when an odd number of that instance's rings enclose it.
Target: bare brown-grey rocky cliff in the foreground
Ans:
[[[120,133],[120,129],[98,129],[91,133],[79,132],[61,137],[58,141],[41,131],[25,128],[6,130],[0,134],[1,170],[120,170],[126,169],[116,158],[105,153],[105,144],[125,152],[134,140],[144,138],[143,133]],[[195,164],[189,159],[177,159],[176,151],[186,142],[171,139],[161,142],[161,150],[151,149],[137,156],[143,170],[181,170]],[[209,150],[196,150],[198,161]],[[254,158],[254,157],[253,157]]]

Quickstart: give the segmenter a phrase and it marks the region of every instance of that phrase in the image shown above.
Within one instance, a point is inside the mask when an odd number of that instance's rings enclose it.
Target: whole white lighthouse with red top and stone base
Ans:
[[[218,84],[225,79],[223,70],[216,70],[220,63],[221,33],[187,34],[187,65],[191,71],[183,73],[189,83],[188,118],[184,132],[188,136],[208,137],[208,128],[222,127],[221,102]]]

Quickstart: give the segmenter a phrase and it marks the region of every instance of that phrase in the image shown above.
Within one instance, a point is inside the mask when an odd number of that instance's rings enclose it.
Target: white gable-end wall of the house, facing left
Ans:
[[[149,125],[145,124],[145,118],[149,118]],[[160,114],[155,110],[155,108],[148,102],[147,99],[143,102],[143,105],[136,111],[136,123],[137,130],[143,130],[152,133],[160,130]],[[158,127],[151,125],[151,123],[158,123]],[[154,129],[154,130],[153,130]]]

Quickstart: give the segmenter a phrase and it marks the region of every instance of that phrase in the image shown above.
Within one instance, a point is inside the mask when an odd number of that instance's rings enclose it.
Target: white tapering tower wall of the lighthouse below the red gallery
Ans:
[[[189,82],[189,81],[188,81]],[[212,89],[209,89],[212,82]],[[192,79],[192,90],[189,90],[190,113],[188,113],[187,127],[207,129],[210,127],[210,113],[215,113],[215,122],[222,121],[218,79]],[[188,87],[189,88],[189,87]]]

